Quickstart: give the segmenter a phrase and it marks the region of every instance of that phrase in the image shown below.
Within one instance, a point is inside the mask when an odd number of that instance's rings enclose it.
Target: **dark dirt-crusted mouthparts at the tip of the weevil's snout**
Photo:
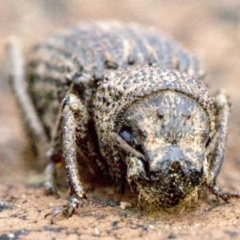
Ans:
[[[149,181],[138,179],[135,182],[140,199],[151,201],[162,208],[178,205],[193,189],[199,188],[203,180],[203,168],[189,161],[168,159],[161,169],[149,172]]]

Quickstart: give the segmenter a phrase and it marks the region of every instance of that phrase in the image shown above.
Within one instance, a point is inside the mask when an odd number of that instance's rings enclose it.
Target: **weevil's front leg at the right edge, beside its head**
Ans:
[[[225,202],[228,202],[230,198],[240,198],[239,193],[224,193],[216,186],[216,178],[220,172],[224,151],[226,146],[227,130],[228,130],[228,119],[230,115],[230,103],[227,99],[227,96],[220,91],[216,96],[216,110],[217,110],[217,119],[216,119],[216,133],[215,138],[212,139],[213,144],[209,145],[209,148],[212,148],[214,145],[214,150],[210,153],[210,169],[209,175],[207,176],[206,185],[209,190],[217,196],[217,198],[223,199]],[[215,142],[215,143],[214,143]],[[211,152],[211,150],[208,150]]]

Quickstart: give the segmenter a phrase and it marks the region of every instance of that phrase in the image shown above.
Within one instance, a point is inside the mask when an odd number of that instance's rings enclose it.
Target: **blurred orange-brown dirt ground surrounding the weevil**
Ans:
[[[79,21],[116,19],[152,25],[203,58],[211,92],[223,88],[232,102],[225,161],[218,186],[240,191],[240,2],[238,0],[0,0],[0,239],[240,239],[240,200],[213,196],[182,211],[121,209],[110,187],[88,185],[89,199],[70,219],[50,224],[41,164],[27,156],[18,107],[9,90],[4,44],[10,35],[24,49],[46,33]],[[40,166],[40,167],[39,167]],[[135,195],[122,201],[134,202]]]

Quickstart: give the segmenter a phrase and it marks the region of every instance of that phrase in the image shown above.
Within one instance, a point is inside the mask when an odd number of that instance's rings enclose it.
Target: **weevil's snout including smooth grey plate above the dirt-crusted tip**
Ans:
[[[189,158],[177,145],[148,154],[148,164],[144,166],[149,181],[140,178],[135,182],[140,196],[151,195],[160,207],[179,204],[195,187],[201,186],[203,158],[195,156],[196,159]]]

